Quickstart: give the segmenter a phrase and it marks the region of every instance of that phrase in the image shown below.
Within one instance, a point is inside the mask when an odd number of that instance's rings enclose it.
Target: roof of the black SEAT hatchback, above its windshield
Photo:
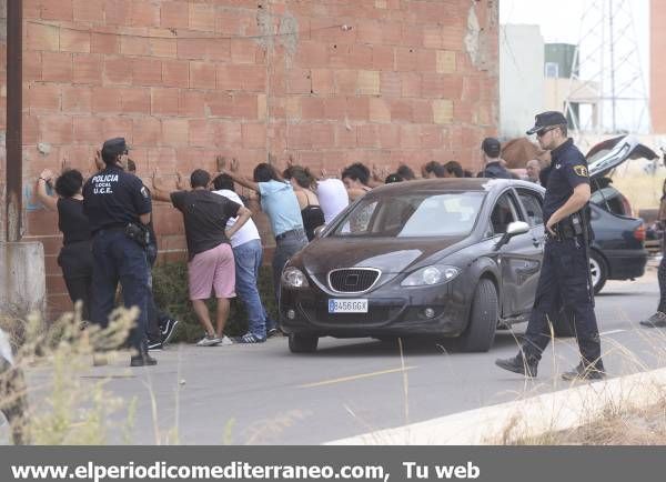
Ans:
[[[491,192],[504,190],[507,187],[531,188],[543,190],[538,184],[518,179],[487,179],[487,178],[442,178],[442,179],[425,179],[421,181],[403,181],[392,182],[390,184],[380,185],[372,191],[379,195],[400,195],[410,192],[447,192],[447,191],[478,191]]]

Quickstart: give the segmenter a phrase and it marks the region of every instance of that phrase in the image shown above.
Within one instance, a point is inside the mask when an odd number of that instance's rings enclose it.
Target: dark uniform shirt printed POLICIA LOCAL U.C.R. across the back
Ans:
[[[108,165],[83,187],[83,212],[93,233],[129,222],[139,223],[139,217],[150,211],[150,192],[141,179],[117,165]]]

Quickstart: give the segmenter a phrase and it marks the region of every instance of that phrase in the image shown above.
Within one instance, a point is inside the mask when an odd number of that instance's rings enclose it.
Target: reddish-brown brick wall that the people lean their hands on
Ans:
[[[269,152],[316,170],[478,169],[496,134],[496,0],[23,1],[27,232],[54,311],[69,305],[60,237],[29,191],[62,160],[90,171],[105,138],[173,183],[218,153],[248,173]],[[155,227],[163,257],[182,257],[180,215],[155,205]]]

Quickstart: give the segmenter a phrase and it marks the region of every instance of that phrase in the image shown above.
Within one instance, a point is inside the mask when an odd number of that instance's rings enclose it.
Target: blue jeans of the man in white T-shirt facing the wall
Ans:
[[[233,249],[236,271],[236,294],[245,303],[248,331],[256,338],[266,338],[266,310],[261,302],[256,280],[263,258],[260,240],[252,240]]]

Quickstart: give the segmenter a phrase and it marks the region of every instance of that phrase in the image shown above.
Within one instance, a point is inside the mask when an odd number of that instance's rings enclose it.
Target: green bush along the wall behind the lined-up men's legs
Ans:
[[[273,294],[273,274],[271,267],[262,267],[259,274],[259,293],[269,317],[276,320],[278,307]],[[188,264],[185,262],[161,263],[153,269],[153,294],[161,311],[180,320],[173,341],[195,342],[203,335],[201,323],[196,319],[188,293]],[[206,302],[213,327],[215,325],[214,299]],[[238,337],[248,331],[245,307],[239,298],[231,301],[229,321],[224,333]]]

